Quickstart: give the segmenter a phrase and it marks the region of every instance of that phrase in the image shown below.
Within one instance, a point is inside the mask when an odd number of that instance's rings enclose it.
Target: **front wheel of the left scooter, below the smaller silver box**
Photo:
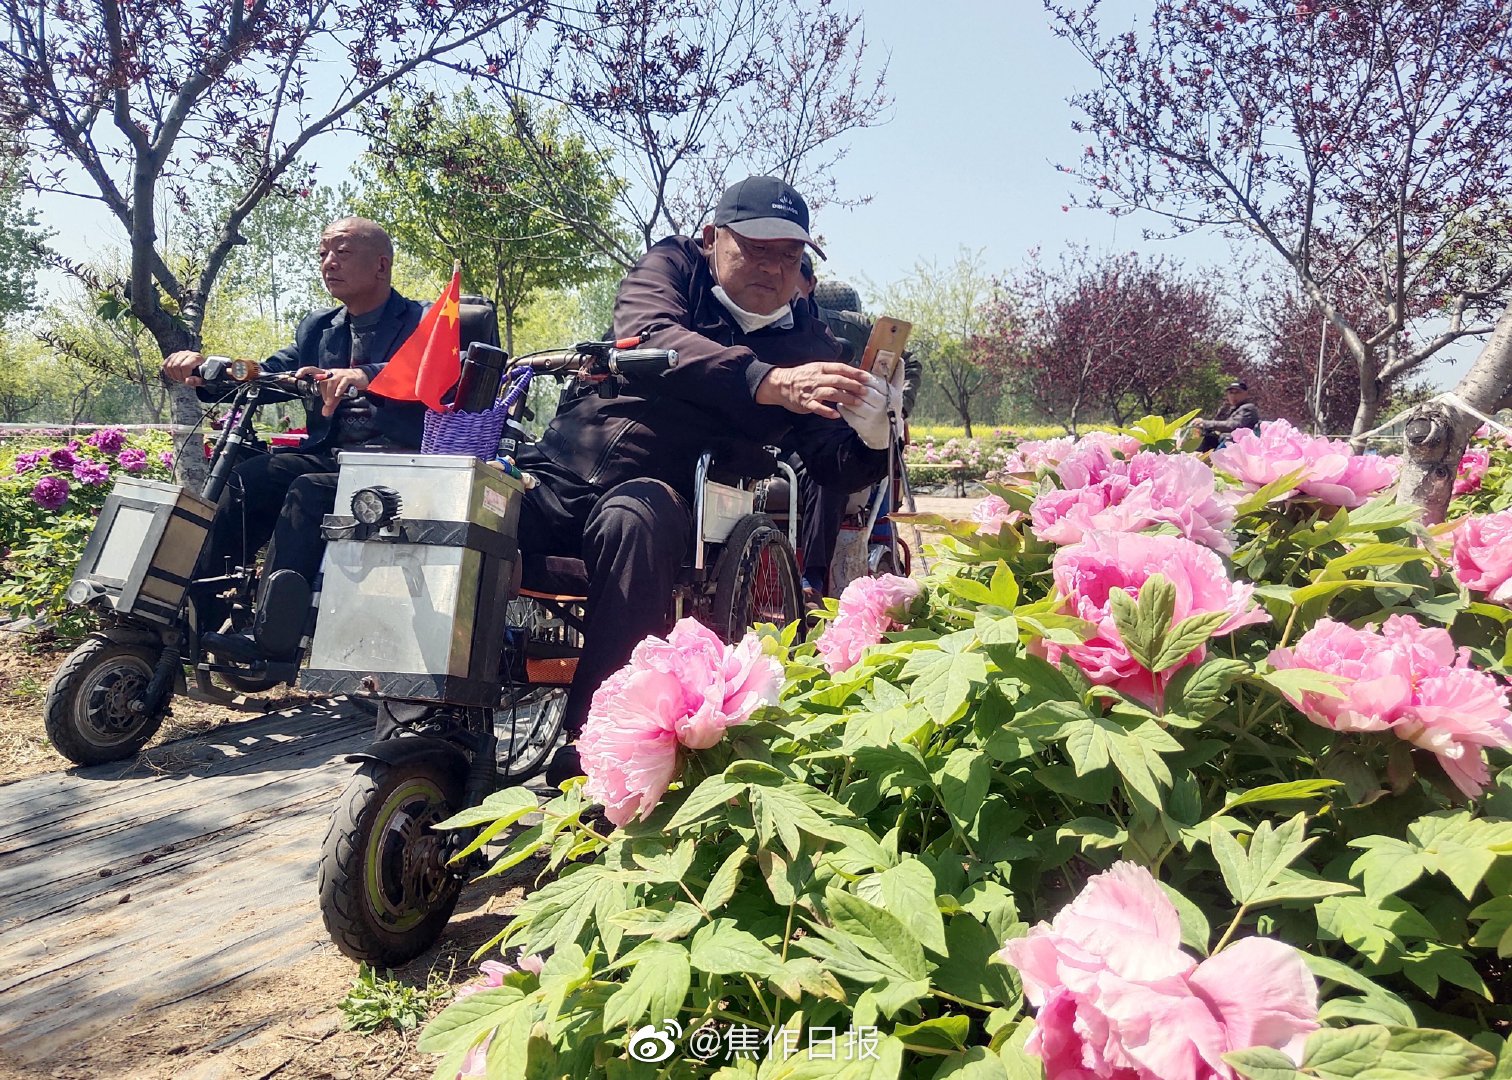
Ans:
[[[47,738],[77,765],[130,758],[157,734],[168,700],[153,714],[133,712],[153,681],[159,650],[91,634],[47,687]],[[165,696],[166,697],[166,696]]]

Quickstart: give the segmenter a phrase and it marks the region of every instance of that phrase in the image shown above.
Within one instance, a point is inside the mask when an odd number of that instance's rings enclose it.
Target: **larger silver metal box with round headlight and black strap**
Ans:
[[[352,452],[340,464],[299,685],[496,705],[519,483],[464,455]],[[364,496],[386,508],[375,523],[355,514],[364,490],[381,493]]]

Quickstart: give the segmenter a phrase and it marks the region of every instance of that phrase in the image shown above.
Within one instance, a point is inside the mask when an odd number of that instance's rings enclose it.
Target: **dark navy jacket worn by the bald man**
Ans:
[[[370,380],[404,340],[420,325],[425,306],[407,299],[398,292],[389,293],[383,316],[373,333],[372,354],[381,357],[360,365]],[[352,330],[346,321],[346,307],[328,307],[304,316],[293,331],[293,345],[287,345],[263,362],[263,371],[298,371],[299,368],[349,368],[352,355]],[[373,405],[373,427],[378,434],[399,446],[417,448],[425,419],[425,405],[417,401],[393,401],[376,393],[367,395]],[[305,410],[305,436],[302,449],[319,451],[331,445],[336,431],[336,416],[321,416],[321,410]]]

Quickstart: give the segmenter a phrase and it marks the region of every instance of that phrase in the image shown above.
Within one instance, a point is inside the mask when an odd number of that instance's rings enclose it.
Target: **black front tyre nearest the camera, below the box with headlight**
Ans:
[[[446,865],[448,835],[431,826],[461,808],[461,776],[435,762],[363,762],[331,814],[316,876],[342,953],[393,968],[435,944],[463,880]]]

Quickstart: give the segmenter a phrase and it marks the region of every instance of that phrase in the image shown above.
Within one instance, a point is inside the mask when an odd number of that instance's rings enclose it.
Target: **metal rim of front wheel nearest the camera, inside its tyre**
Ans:
[[[454,877],[446,868],[446,838],[432,826],[451,817],[434,781],[417,776],[384,800],[367,841],[367,906],[392,933],[420,923]]]

